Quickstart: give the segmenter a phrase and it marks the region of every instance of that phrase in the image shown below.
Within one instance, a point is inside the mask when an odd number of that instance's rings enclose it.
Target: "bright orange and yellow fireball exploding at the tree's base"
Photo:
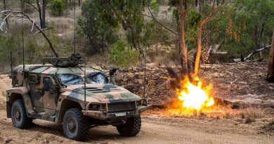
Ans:
[[[178,99],[181,100],[181,107],[187,110],[202,110],[214,105],[214,98],[209,95],[211,84],[202,86],[202,81],[195,77],[194,82],[185,78],[181,90],[177,90]]]

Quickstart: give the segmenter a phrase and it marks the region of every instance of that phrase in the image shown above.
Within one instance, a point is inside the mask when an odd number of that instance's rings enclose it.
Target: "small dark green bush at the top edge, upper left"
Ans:
[[[51,2],[51,15],[62,16],[64,15],[65,4],[63,0],[53,0]]]

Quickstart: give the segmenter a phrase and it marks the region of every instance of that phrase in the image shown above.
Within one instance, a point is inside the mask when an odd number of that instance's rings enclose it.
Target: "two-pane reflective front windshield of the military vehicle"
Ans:
[[[77,74],[58,74],[58,78],[65,86],[84,84],[84,78]],[[91,72],[86,75],[86,83],[107,84],[108,79],[102,72]]]

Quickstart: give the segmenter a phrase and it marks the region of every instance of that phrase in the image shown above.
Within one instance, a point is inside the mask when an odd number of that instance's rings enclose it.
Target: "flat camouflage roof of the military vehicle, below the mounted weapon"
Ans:
[[[22,72],[23,65],[13,68],[13,72]],[[25,65],[25,72],[39,74],[84,74],[84,67],[53,67],[53,65]],[[92,67],[86,67],[86,73],[102,72]]]

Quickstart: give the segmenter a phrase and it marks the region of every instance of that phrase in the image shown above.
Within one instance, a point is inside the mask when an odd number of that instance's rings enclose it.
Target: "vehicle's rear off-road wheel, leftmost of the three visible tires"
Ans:
[[[11,122],[13,126],[19,129],[28,129],[32,125],[32,118],[27,117],[24,101],[15,100],[11,107]]]

